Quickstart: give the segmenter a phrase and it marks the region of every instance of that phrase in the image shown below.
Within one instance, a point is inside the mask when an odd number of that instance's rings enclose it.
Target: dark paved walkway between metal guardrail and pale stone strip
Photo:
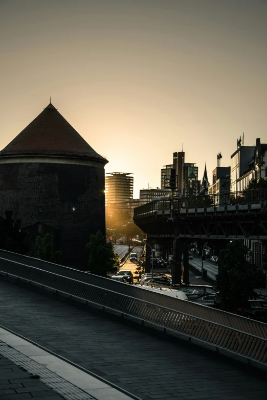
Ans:
[[[266,380],[231,359],[217,359],[8,281],[0,280],[0,298],[0,324],[144,400],[266,400]]]

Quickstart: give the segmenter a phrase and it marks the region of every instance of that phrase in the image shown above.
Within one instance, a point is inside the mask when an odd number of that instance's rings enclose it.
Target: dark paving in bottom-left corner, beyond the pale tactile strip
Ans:
[[[59,394],[38,379],[0,355],[1,400],[63,400]]]

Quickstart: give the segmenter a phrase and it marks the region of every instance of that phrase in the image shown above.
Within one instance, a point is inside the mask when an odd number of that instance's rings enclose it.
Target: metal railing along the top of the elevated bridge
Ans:
[[[207,196],[174,197],[173,208],[175,210],[190,208],[221,207],[227,205],[266,203],[267,189],[255,189],[250,191],[221,193]],[[150,203],[140,205],[133,209],[133,219],[138,220],[157,214],[157,211],[169,211],[171,198],[162,198]]]

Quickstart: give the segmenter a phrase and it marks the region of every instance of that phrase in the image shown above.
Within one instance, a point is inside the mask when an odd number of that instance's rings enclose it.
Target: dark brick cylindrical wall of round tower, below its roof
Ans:
[[[91,233],[105,233],[104,168],[59,163],[0,164],[0,215],[12,209],[21,227],[59,230],[66,265],[86,266]]]

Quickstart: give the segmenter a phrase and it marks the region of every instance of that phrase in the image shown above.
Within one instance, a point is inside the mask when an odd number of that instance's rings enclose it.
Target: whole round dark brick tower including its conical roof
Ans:
[[[50,103],[0,152],[0,215],[13,210],[31,249],[55,233],[64,263],[82,267],[90,234],[105,233],[107,162]]]

